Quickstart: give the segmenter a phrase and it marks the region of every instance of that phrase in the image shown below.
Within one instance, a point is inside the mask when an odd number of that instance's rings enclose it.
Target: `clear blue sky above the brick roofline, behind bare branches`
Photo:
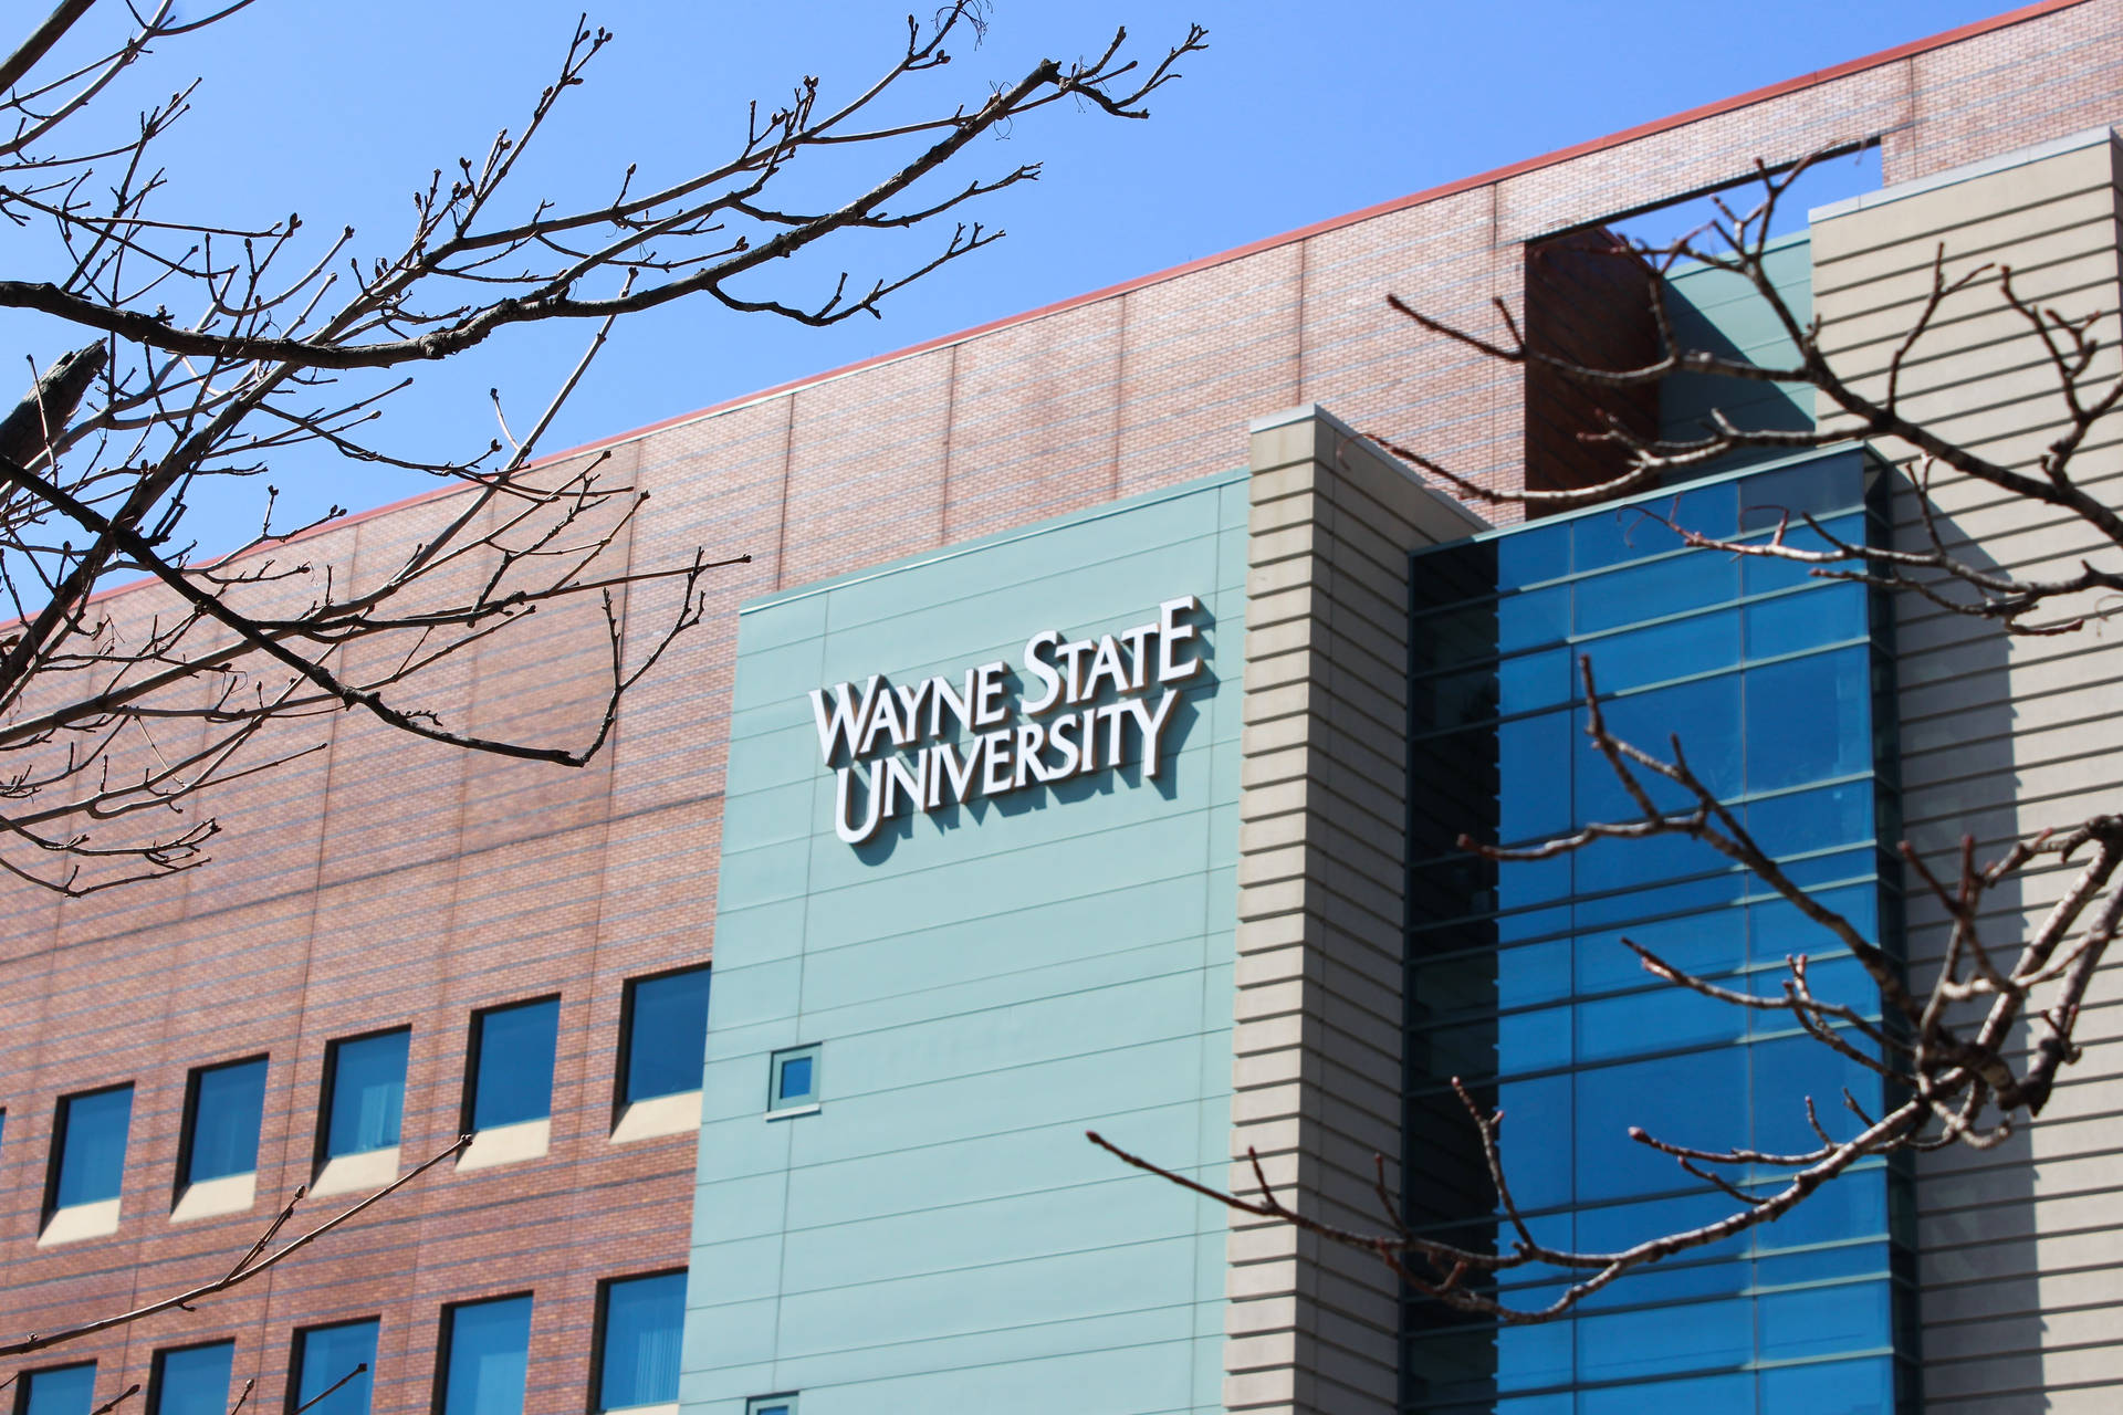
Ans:
[[[106,0],[115,8],[115,0]],[[191,0],[189,8],[200,8]],[[847,91],[900,42],[894,4],[588,0],[618,32],[563,112],[539,182],[522,195],[603,191],[628,161],[677,174],[726,153],[749,98],[800,74]],[[40,6],[42,8],[42,2]],[[121,104],[204,76],[170,153],[170,204],[195,219],[299,210],[312,231],[355,225],[369,250],[403,231],[408,191],[437,163],[520,123],[582,6],[571,0],[263,0],[174,40]],[[979,49],[960,47],[934,93],[979,98],[1042,55],[1098,49],[1117,23],[1161,53],[1189,19],[1210,51],[1123,123],[1057,106],[979,142],[962,180],[1042,161],[1045,180],[991,199],[1008,240],[902,293],[887,318],[809,331],[705,303],[622,327],[548,450],[605,437],[832,365],[1155,272],[1374,202],[1713,102],[1949,30],[1989,0],[996,0]],[[926,8],[924,8],[926,13]],[[926,240],[940,240],[943,233]],[[894,252],[849,250],[853,269]],[[13,272],[21,274],[21,272]],[[824,272],[792,272],[817,280]],[[781,291],[783,295],[796,291]],[[57,331],[0,325],[40,361]],[[408,452],[486,441],[486,388],[527,422],[573,361],[575,337],[497,339],[469,367],[422,378],[384,433]],[[19,356],[19,350],[17,350]],[[397,441],[395,441],[397,439]],[[422,490],[405,473],[276,469],[301,507],[361,509]],[[227,545],[255,511],[214,499],[193,532]]]

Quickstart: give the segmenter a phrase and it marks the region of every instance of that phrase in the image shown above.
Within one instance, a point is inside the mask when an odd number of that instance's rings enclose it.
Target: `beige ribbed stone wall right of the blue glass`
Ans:
[[[1813,297],[1845,375],[1879,390],[1945,248],[1947,276],[2008,265],[2015,289],[2066,316],[2098,316],[2106,348],[2087,386],[2117,378],[2119,149],[2106,129],[2019,159],[1887,189],[1815,212]],[[2032,469],[2061,429],[2057,382],[1996,272],[1953,297],[1902,373],[1904,412],[1985,456]],[[2110,426],[2076,458],[2076,479],[2123,499]],[[1894,452],[1894,448],[1887,448]],[[1906,448],[1902,450],[1906,454]],[[1902,456],[1902,467],[1909,458]],[[1940,471],[1934,503],[1949,543],[2013,573],[2070,573],[2102,543],[2047,507]],[[1896,539],[1923,547],[1906,479]],[[2106,547],[2104,564],[2115,564]],[[2078,605],[2074,609],[2098,609]],[[2112,605],[2108,607],[2112,609]],[[2117,810],[2123,785],[2123,634],[2008,639],[1915,596],[1898,602],[1906,836],[1932,859],[1972,832],[1981,857],[2044,825]],[[2030,874],[1991,899],[1985,929],[2013,940],[2070,872]],[[1915,885],[1915,880],[1911,880]],[[1909,895],[1913,969],[1936,967],[1945,927]],[[2066,1071],[2038,1124],[1989,1152],[1917,1163],[1926,1409],[2112,1411],[2123,1381],[2123,959],[2110,959],[2078,1025],[2085,1061]]]

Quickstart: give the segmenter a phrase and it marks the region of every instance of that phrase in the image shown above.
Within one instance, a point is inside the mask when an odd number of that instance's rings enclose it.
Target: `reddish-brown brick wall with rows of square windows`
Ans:
[[[652,492],[622,558],[662,566],[705,545],[754,562],[715,575],[707,622],[590,768],[476,759],[327,717],[272,740],[325,751],[217,793],[227,834],[208,870],[66,904],[0,889],[0,1326],[49,1330],[225,1266],[270,1196],[308,1180],[333,1037],[412,1027],[416,1156],[456,1122],[469,1012],[558,993],[548,1158],[435,1173],[195,1315],[68,1356],[93,1356],[115,1392],[146,1377],[157,1345],[231,1334],[238,1379],[257,1377],[253,1400],[274,1413],[297,1326],[380,1315],[376,1409],[420,1411],[439,1307],[531,1290],[529,1409],[575,1415],[597,1281],[686,1258],[694,1139],[609,1143],[614,1046],[626,978],[713,948],[739,602],[1238,467],[1246,418],[1299,401],[1518,484],[1518,375],[1420,335],[1386,291],[1482,327],[1492,295],[1522,299],[1539,235],[1826,140],[1879,136],[1889,180],[1923,176],[2115,121],[2119,93],[2123,0],[2089,0],[620,439],[607,475]],[[367,579],[452,509],[399,507],[304,549]],[[153,609],[151,592],[123,596],[125,615]],[[631,647],[671,609],[669,586],[635,594]],[[537,740],[584,730],[603,675],[594,617],[541,613],[514,643],[446,664],[422,704]],[[272,1054],[267,1199],[172,1226],[185,1073],[253,1052]],[[136,1103],[121,1230],[40,1252],[55,1099],[123,1080]]]

